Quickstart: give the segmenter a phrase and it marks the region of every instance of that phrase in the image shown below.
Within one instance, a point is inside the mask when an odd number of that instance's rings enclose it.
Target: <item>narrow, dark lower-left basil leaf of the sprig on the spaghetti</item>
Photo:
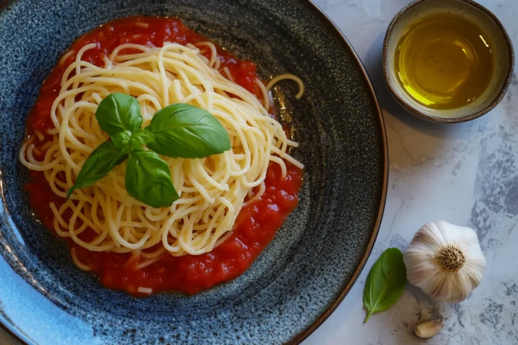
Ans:
[[[68,189],[66,198],[70,198],[74,189],[92,186],[126,158],[127,155],[122,153],[112,141],[105,141],[100,144],[83,163],[77,175],[76,183]]]

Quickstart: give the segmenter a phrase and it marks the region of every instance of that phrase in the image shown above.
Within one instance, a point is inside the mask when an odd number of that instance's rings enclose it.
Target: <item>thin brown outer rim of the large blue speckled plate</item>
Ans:
[[[12,0],[0,0],[0,11],[2,11],[8,3],[10,3]],[[418,1],[424,1],[424,0],[418,0]],[[466,0],[470,1],[470,0]],[[327,318],[335,311],[335,309],[340,305],[340,303],[343,301],[343,299],[347,296],[351,288],[353,287],[354,283],[358,279],[359,275],[362,273],[363,268],[365,266],[365,263],[367,262],[367,259],[370,256],[370,253],[372,251],[372,248],[374,247],[374,244],[376,242],[376,238],[378,237],[378,232],[381,226],[381,220],[383,218],[383,212],[385,209],[385,202],[386,202],[386,194],[387,194],[387,188],[389,185],[389,147],[387,142],[387,136],[386,136],[386,129],[385,129],[385,121],[383,119],[383,113],[380,108],[380,104],[378,102],[378,98],[376,96],[376,92],[374,91],[374,88],[372,87],[372,83],[370,81],[370,78],[367,74],[367,71],[365,70],[365,67],[359,58],[358,54],[352,47],[349,40],[346,38],[346,36],[340,31],[338,26],[325,14],[318,6],[316,6],[311,0],[300,0],[303,5],[305,5],[308,9],[313,11],[317,17],[319,17],[323,22],[327,22],[329,25],[328,30],[330,32],[334,32],[337,34],[341,39],[346,49],[348,49],[351,54],[353,55],[359,69],[364,75],[365,83],[370,91],[370,94],[372,96],[372,100],[376,105],[376,111],[378,114],[378,118],[380,121],[380,130],[381,130],[381,145],[382,145],[382,151],[383,151],[383,174],[381,176],[382,178],[382,190],[381,190],[381,196],[380,196],[380,204],[378,206],[378,212],[376,215],[375,222],[372,226],[372,231],[370,233],[370,238],[367,242],[365,251],[363,253],[363,256],[361,260],[358,263],[358,266],[356,267],[355,271],[353,272],[351,278],[349,281],[347,281],[344,286],[341,289],[341,292],[336,297],[335,301],[325,310],[322,311],[318,319],[315,320],[310,326],[308,326],[304,331],[300,332],[298,335],[296,335],[294,338],[292,338],[290,341],[286,342],[286,344],[289,345],[297,345],[301,343],[304,339],[306,339],[311,333],[315,331],[316,328],[318,328]],[[507,85],[508,86],[508,85]],[[507,89],[507,87],[506,87]],[[503,95],[502,95],[503,97]],[[5,205],[5,203],[4,203]],[[15,343],[18,342],[20,344],[24,345],[32,345],[33,342],[30,338],[27,337],[23,332],[20,331],[16,327],[16,325],[12,325],[8,320],[6,320],[5,316],[3,314],[0,314],[0,334],[4,334],[7,336],[8,340],[14,341]]]

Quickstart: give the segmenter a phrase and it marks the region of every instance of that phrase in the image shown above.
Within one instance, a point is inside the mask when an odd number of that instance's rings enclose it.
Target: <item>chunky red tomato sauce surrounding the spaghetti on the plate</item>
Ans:
[[[94,29],[70,47],[68,52],[71,53],[52,70],[41,86],[38,99],[27,119],[28,132],[46,133],[47,129],[54,127],[50,119],[50,108],[59,93],[63,72],[75,61],[76,53],[85,44],[96,43],[97,46],[85,52],[82,59],[97,66],[104,66],[103,58],[122,43],[162,47],[164,42],[194,44],[207,40],[175,18],[132,17],[112,21]],[[255,64],[240,61],[217,44],[216,47],[221,62],[220,70],[228,67],[237,84],[261,99],[261,89],[255,84]],[[207,49],[204,55],[210,58],[210,50]],[[41,147],[48,140],[50,137],[45,136],[43,141],[36,142]],[[44,155],[45,153],[35,157],[42,159]],[[302,171],[287,162],[286,167],[287,175],[283,179],[278,164],[270,163],[264,195],[241,209],[232,235],[209,253],[173,257],[166,252],[159,261],[135,269],[139,262],[131,262],[130,253],[93,252],[78,246],[70,238],[65,238],[65,241],[71,249],[76,250],[80,262],[93,267],[93,273],[107,288],[126,291],[135,296],[148,295],[139,293],[139,287],[151,288],[153,294],[164,291],[195,294],[241,275],[274,238],[287,215],[296,207],[298,190],[302,183]],[[31,182],[26,185],[26,190],[30,195],[31,206],[46,227],[54,229],[54,216],[49,203],[54,202],[59,208],[65,199],[52,192],[44,173],[31,171],[30,175]],[[70,213],[65,212],[63,218],[68,221],[70,216]],[[83,241],[91,241],[95,237],[95,232],[87,229],[79,237]]]

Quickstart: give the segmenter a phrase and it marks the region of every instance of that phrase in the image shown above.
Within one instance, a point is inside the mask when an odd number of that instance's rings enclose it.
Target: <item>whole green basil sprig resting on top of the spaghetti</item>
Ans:
[[[173,158],[205,158],[231,148],[230,138],[217,118],[206,110],[177,103],[155,113],[141,129],[140,104],[125,94],[103,99],[95,112],[99,126],[110,135],[83,163],[76,183],[68,189],[92,186],[128,159],[126,190],[133,198],[155,208],[178,200],[168,164],[161,154]],[[145,146],[153,151],[148,151]],[[129,158],[128,158],[129,157]]]

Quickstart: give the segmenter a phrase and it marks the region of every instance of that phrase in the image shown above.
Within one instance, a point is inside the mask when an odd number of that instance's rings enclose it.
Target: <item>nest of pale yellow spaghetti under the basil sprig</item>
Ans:
[[[166,43],[162,48],[122,44],[105,57],[104,67],[81,60],[94,47],[95,43],[85,45],[64,71],[51,108],[53,128],[36,132],[20,149],[20,161],[44,172],[56,196],[66,197],[84,161],[108,140],[95,111],[111,93],[138,100],[142,127],[156,111],[173,103],[205,109],[227,130],[231,149],[207,158],[162,157],[180,197],[170,207],[153,208],[129,196],[122,163],[92,187],[76,190],[62,205],[50,203],[59,236],[91,251],[142,253],[147,259],[143,264],[165,252],[172,256],[206,253],[232,233],[241,208],[262,196],[269,164],[279,164],[283,176],[286,161],[303,168],[287,153],[297,143],[268,113],[269,88],[283,78],[301,85],[298,78],[279,76],[267,85],[257,79],[263,92],[259,100],[234,83],[227,70],[220,73],[210,42]],[[211,50],[211,58],[200,54],[200,49]],[[298,97],[301,92],[302,85]],[[38,145],[42,138],[50,140]],[[42,160],[36,158],[41,156]],[[82,236],[87,229],[95,235]]]

